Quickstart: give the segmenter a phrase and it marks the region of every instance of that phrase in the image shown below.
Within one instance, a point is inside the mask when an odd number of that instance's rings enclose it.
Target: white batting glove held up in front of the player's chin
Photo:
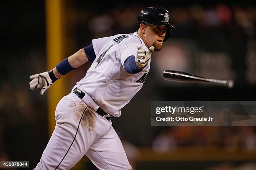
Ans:
[[[141,45],[138,45],[138,50],[136,52],[135,61],[137,67],[143,68],[148,64],[148,60],[151,57],[152,52],[154,51],[155,47],[151,46],[147,52],[141,49]]]

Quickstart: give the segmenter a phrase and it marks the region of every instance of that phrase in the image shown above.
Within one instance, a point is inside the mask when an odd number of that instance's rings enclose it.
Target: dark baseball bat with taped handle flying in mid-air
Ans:
[[[212,78],[199,77],[196,75],[191,75],[186,72],[174,71],[174,70],[165,70],[163,72],[163,77],[165,80],[171,80],[176,82],[205,82],[216,85],[224,85],[228,88],[234,87],[233,80],[218,80]]]

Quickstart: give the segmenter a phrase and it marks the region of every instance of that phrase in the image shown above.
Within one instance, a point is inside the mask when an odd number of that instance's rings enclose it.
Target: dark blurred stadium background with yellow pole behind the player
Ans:
[[[255,127],[153,127],[150,117],[154,100],[255,100],[256,5],[244,1],[0,2],[0,161],[36,166],[53,131],[57,103],[90,63],[43,96],[30,90],[29,76],[50,70],[92,39],[134,32],[138,14],[148,6],[166,8],[177,30],[153,54],[143,88],[112,119],[133,169],[256,170]],[[233,79],[235,86],[167,82],[166,69]],[[73,169],[96,168],[84,157]]]

